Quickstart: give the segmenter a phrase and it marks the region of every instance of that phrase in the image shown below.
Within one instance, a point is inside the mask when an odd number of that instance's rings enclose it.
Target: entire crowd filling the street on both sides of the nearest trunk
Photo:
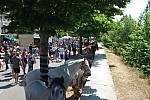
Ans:
[[[88,47],[89,45],[97,45],[96,41],[91,41],[87,43],[87,41],[83,42],[83,47]],[[7,44],[7,45],[6,45]],[[33,70],[33,65],[36,63],[36,57],[39,56],[40,50],[37,47],[32,46],[30,44],[29,50],[21,50],[19,45],[12,46],[9,43],[5,44],[5,48],[0,44],[0,52],[4,54],[4,62],[7,69],[12,69],[12,76],[15,79],[15,83],[18,83],[18,75],[20,70],[22,69],[23,74],[25,75],[28,71]],[[67,39],[63,42],[54,41],[53,43],[49,43],[48,46],[48,59],[49,63],[67,61],[70,56],[78,56],[79,55],[80,44],[76,39]],[[96,48],[97,49],[97,48]],[[93,59],[95,55],[96,49],[92,49]],[[9,67],[10,64],[10,67]],[[21,66],[21,67],[20,67]],[[26,69],[28,66],[28,69]]]

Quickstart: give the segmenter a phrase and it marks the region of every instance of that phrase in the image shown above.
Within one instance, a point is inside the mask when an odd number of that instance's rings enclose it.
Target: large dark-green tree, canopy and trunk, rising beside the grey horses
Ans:
[[[48,84],[47,40],[58,29],[75,29],[84,18],[89,19],[98,11],[111,17],[122,14],[130,0],[1,0],[0,8],[9,12],[16,29],[38,29],[40,34],[41,79]],[[85,23],[85,22],[84,22]]]

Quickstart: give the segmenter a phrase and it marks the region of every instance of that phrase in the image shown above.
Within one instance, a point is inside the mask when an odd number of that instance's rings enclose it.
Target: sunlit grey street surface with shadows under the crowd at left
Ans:
[[[0,59],[2,61],[2,59]],[[51,63],[49,66],[56,67],[64,64],[60,63]],[[40,60],[36,59],[36,64],[34,69],[39,69]],[[28,69],[28,66],[27,66]],[[23,87],[23,72],[19,74],[19,84],[14,84],[14,79],[11,75],[11,68],[5,71],[5,64],[2,69],[0,69],[0,100],[25,100],[25,93]]]

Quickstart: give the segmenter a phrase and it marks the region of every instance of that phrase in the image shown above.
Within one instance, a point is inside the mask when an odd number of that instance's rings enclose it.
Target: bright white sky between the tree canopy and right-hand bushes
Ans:
[[[148,0],[131,0],[127,5],[127,8],[124,9],[124,15],[131,15],[135,20],[138,19],[140,14],[144,11]],[[116,19],[120,20],[120,16],[116,16]]]

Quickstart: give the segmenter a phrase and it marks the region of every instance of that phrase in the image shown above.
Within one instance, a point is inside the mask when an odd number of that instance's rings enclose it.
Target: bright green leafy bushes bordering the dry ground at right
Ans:
[[[150,75],[150,2],[144,12],[135,21],[131,16],[124,16],[113,23],[113,29],[104,34],[105,46],[121,54],[125,62]]]

